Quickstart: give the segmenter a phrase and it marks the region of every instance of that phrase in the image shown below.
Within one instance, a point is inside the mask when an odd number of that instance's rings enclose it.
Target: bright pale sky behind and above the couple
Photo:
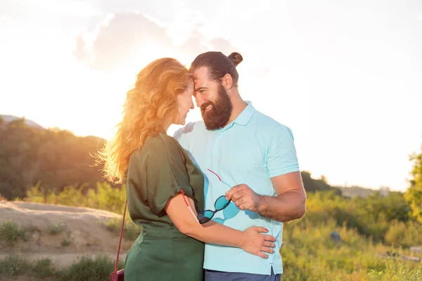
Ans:
[[[312,177],[404,191],[421,151],[420,0],[1,0],[0,42],[0,114],[46,128],[109,138],[148,63],[238,51]]]

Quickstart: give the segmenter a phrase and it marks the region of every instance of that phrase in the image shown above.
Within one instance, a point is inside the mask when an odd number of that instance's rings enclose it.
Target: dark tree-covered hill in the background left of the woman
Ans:
[[[4,115],[3,115],[4,116]],[[42,129],[27,119],[0,119],[0,194],[11,200],[25,197],[40,183],[41,190],[63,190],[66,185],[95,186],[103,181],[94,166],[96,152],[106,142],[79,137],[60,129]]]

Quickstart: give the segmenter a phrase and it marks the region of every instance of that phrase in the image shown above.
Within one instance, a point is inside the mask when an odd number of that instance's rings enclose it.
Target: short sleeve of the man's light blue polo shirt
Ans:
[[[300,171],[292,131],[282,126],[276,130],[268,148],[267,169],[269,176],[281,176]]]

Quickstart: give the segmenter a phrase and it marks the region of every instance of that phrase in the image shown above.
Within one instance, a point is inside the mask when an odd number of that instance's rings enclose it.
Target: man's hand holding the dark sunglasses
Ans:
[[[261,197],[257,195],[248,185],[241,183],[235,185],[226,192],[226,199],[231,200],[241,210],[258,211],[261,204]]]

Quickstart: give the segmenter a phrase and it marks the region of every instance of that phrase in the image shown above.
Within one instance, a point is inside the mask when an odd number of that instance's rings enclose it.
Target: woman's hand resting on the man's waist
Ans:
[[[249,254],[254,254],[260,256],[262,259],[267,259],[268,255],[264,252],[272,254],[274,253],[274,247],[276,247],[276,237],[271,235],[265,235],[262,233],[267,233],[268,230],[262,228],[261,226],[251,226],[243,230],[244,240],[243,240],[243,251],[247,251]]]

